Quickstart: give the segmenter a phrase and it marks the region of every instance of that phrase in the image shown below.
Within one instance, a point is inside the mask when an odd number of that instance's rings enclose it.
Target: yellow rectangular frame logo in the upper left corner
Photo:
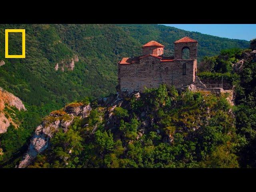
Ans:
[[[22,33],[22,55],[8,54],[8,33]],[[25,29],[6,29],[5,30],[5,58],[25,58]]]

